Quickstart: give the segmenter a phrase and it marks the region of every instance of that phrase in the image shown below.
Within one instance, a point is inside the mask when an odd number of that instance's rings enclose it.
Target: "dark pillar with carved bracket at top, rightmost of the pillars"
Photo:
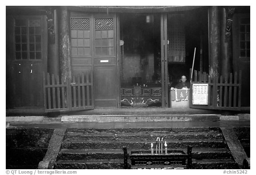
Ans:
[[[232,16],[235,8],[221,8],[221,75],[232,72]]]

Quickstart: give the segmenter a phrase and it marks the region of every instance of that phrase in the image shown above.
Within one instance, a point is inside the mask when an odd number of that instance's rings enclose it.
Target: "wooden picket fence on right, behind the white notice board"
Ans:
[[[191,72],[191,69],[190,69]],[[192,105],[192,90],[190,91],[190,107],[201,109],[240,110],[241,107],[241,71],[228,77],[210,78],[206,72],[193,71],[193,83],[208,84],[208,105]],[[239,76],[239,77],[238,77]],[[191,85],[192,88],[192,85]]]

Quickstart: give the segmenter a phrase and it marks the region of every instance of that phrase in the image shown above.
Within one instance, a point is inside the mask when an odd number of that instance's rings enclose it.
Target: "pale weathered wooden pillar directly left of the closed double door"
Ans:
[[[60,7],[60,77],[71,78],[69,12],[66,6]]]

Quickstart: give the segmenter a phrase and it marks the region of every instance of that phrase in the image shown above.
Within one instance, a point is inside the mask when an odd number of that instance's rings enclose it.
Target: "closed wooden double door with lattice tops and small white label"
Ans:
[[[72,12],[72,75],[93,74],[95,108],[117,107],[116,16]]]

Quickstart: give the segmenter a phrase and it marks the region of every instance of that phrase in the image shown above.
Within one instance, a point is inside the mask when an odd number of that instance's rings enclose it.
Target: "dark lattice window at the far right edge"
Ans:
[[[240,18],[240,58],[250,57],[250,18]]]

